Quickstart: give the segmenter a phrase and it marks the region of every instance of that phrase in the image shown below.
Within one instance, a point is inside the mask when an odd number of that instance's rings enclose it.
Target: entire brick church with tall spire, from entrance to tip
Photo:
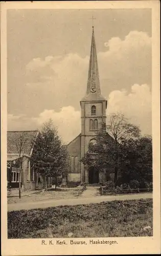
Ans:
[[[101,95],[94,27],[91,37],[90,60],[86,95],[80,100],[81,134],[67,145],[71,157],[67,183],[104,183],[105,175],[95,168],[85,168],[80,160],[88,151],[89,143],[95,143],[96,132],[106,122],[107,100]]]

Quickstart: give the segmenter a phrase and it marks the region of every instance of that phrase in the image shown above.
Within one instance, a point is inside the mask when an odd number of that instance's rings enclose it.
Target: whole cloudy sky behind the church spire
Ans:
[[[93,15],[107,121],[122,112],[151,134],[150,9],[8,10],[8,131],[40,129],[51,118],[65,143],[81,132]]]

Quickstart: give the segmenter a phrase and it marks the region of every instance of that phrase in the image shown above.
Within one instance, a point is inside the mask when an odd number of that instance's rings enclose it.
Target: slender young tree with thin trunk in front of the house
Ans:
[[[18,154],[18,165],[19,165],[19,198],[21,198],[21,176],[22,176],[22,153],[25,150],[27,139],[27,132],[21,132],[19,138],[16,141],[16,151]]]

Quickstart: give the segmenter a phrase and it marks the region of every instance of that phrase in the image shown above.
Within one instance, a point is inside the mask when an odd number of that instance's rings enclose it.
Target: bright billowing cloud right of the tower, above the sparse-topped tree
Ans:
[[[121,112],[140,127],[142,134],[151,134],[151,100],[147,84],[134,84],[129,93],[126,90],[113,91],[109,94],[107,115]]]

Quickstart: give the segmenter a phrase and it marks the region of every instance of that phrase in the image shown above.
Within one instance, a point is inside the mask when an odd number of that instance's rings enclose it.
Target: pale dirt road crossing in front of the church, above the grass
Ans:
[[[91,196],[90,193],[88,196]],[[152,198],[152,193],[145,194],[133,194],[133,195],[116,195],[116,196],[100,196],[100,197],[78,197],[74,199],[61,199],[61,200],[48,200],[48,201],[37,201],[37,202],[28,202],[28,203],[16,203],[8,204],[8,211],[13,210],[29,210],[37,208],[48,208],[56,207],[62,205],[79,205],[79,204],[91,204],[91,203],[101,203],[106,201],[114,200],[134,200],[134,199],[147,199]]]

